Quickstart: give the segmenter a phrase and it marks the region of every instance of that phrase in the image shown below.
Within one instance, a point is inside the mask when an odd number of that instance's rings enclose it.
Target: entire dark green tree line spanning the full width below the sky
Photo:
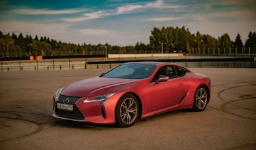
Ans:
[[[245,43],[242,43],[238,33],[235,41],[231,41],[227,33],[216,39],[211,35],[203,35],[197,31],[190,33],[188,29],[179,27],[154,28],[149,37],[150,43],[118,46],[83,43],[63,43],[35,35],[23,36],[0,31],[0,57],[26,57],[26,56],[72,56],[72,55],[99,55],[105,54],[138,54],[138,53],[188,53],[188,54],[255,54],[256,34],[250,32]]]

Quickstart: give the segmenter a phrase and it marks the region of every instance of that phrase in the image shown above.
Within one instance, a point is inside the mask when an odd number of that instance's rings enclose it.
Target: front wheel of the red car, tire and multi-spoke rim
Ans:
[[[125,94],[117,102],[115,124],[119,127],[130,127],[139,117],[139,102],[132,94]]]

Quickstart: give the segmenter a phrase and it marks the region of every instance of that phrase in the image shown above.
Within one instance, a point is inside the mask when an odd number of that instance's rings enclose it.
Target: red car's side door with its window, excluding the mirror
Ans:
[[[168,81],[156,83],[159,75],[169,77]],[[174,66],[160,67],[150,83],[152,110],[178,105],[186,93],[186,82]]]

